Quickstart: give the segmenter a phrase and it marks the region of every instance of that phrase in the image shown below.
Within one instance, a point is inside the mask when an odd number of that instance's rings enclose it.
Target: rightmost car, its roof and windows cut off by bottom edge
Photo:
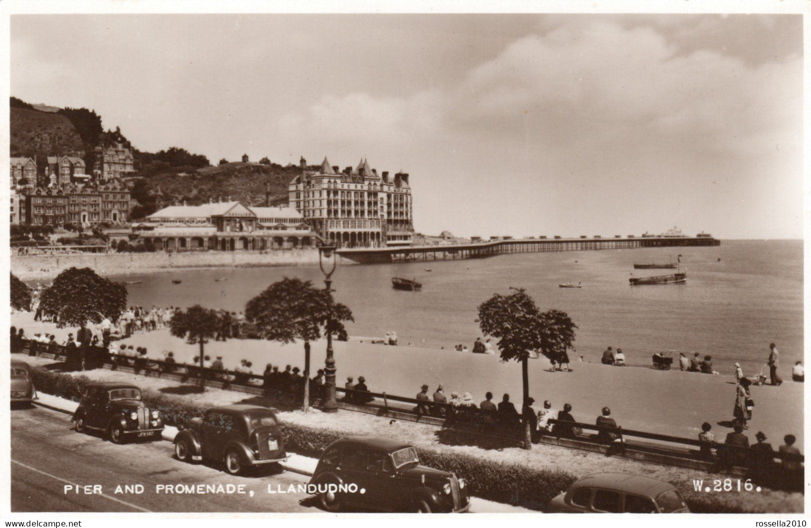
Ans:
[[[547,513],[689,513],[672,484],[629,473],[578,479],[549,502]]]

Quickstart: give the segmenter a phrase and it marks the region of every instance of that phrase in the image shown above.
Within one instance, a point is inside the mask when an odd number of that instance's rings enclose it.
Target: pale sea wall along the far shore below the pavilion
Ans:
[[[337,257],[338,264],[354,264]],[[90,267],[99,275],[138,275],[184,268],[318,265],[316,249],[206,251],[189,253],[81,253],[71,255],[12,255],[11,271],[22,280],[54,279],[70,267]]]

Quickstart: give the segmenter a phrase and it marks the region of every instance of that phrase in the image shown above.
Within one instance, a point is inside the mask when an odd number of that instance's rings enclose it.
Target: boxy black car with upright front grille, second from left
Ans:
[[[104,432],[114,444],[132,438],[160,440],[163,420],[160,411],[141,401],[141,390],[129,383],[88,383],[73,415],[76,431]]]

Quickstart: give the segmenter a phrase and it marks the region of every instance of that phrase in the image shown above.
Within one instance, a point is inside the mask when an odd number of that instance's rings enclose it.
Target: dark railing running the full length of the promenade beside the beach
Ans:
[[[57,343],[41,343],[36,339],[23,339],[22,341],[13,339],[11,351],[28,353],[30,356],[51,355],[54,359],[64,360],[67,364],[70,364],[72,360],[74,366],[79,367],[79,364],[76,363],[79,358],[79,350],[76,349],[73,352],[74,357],[71,358],[68,356],[67,347]],[[224,389],[249,388],[256,393],[272,392],[289,398],[302,396],[305,383],[303,377],[295,380],[285,373],[272,373],[270,376],[265,376],[263,373],[200,367],[199,364],[157,360],[146,356],[121,356],[111,354],[109,349],[102,347],[86,349],[85,365],[86,368],[127,367],[132,368],[135,373],[145,376],[172,375],[179,377],[182,382],[199,381],[202,378],[205,384],[217,384]],[[322,387],[323,385],[311,381],[311,402],[316,405],[323,398]],[[447,402],[433,402],[385,392],[377,393],[343,387],[337,387],[336,392],[339,401],[345,407],[355,410],[365,409],[374,414],[406,415],[411,416],[414,421],[431,420],[443,428],[443,431],[450,436],[450,441],[456,443],[487,445],[495,441],[501,442],[501,445],[517,445],[523,439],[522,419],[521,415],[517,413],[485,411],[478,407],[457,406]],[[713,471],[728,471],[732,467],[757,471],[758,466],[776,460],[787,462],[789,465],[796,464],[797,471],[801,473],[802,464],[805,463],[805,457],[801,454],[779,451],[763,453],[751,447],[738,447],[656,432],[636,431],[621,427],[610,428],[559,419],[549,419],[547,423],[551,425],[551,431],[540,429],[533,432],[534,442],[552,442],[559,445],[571,445],[571,443],[603,445],[607,454],[623,454],[627,449],[648,451],[672,458],[709,462]],[[783,478],[791,476],[783,475]]]

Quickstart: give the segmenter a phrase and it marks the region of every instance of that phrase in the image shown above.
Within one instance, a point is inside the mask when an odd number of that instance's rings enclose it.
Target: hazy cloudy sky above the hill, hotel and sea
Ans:
[[[11,95],[144,151],[409,172],[457,236],[802,238],[800,15],[12,15]]]

